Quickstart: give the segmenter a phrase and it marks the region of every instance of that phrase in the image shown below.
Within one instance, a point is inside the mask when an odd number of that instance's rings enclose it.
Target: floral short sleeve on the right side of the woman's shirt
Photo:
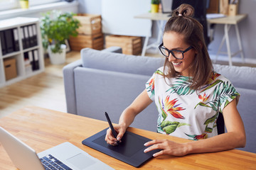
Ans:
[[[240,94],[238,91],[236,91],[233,84],[230,83],[230,81],[224,81],[222,88],[218,91],[219,94],[219,106],[220,106],[220,113],[223,113],[223,109],[225,106],[228,106],[228,103],[236,100],[236,103],[238,104]]]

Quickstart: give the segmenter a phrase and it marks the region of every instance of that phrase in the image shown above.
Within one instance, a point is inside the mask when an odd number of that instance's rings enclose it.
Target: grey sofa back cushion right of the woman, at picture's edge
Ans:
[[[256,68],[213,64],[215,72],[227,77],[235,87],[256,90]]]

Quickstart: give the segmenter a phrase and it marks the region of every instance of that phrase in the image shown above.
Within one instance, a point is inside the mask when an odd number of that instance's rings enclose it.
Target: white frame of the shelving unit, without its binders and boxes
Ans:
[[[17,81],[21,81],[22,79],[26,79],[28,77],[32,77],[36,74],[39,74],[44,71],[44,60],[43,60],[43,45],[41,40],[41,30],[39,26],[38,18],[26,18],[26,17],[17,17],[11,18],[8,20],[0,21],[0,32],[3,30],[16,29],[18,30],[18,51],[9,52],[3,55],[1,49],[1,40],[0,40],[0,88],[9,84],[13,84]],[[23,33],[23,28],[28,26],[34,26],[33,33],[36,30],[36,45],[23,48],[23,40],[22,36],[25,37]],[[5,35],[6,36],[6,35]],[[26,62],[25,62],[25,53],[30,51],[37,51],[38,53],[38,68],[31,71],[26,72]],[[10,58],[16,59],[16,71],[17,77],[13,79],[6,80],[5,72],[4,72],[4,61]]]

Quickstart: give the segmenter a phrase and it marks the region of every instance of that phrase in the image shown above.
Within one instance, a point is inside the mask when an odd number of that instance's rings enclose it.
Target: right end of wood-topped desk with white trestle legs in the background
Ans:
[[[240,21],[244,20],[246,17],[247,17],[247,14],[240,14],[237,16],[226,16],[223,18],[208,19],[208,23],[224,24],[224,35],[223,35],[222,41],[220,42],[220,47],[218,48],[218,52],[217,52],[215,60],[217,60],[219,54],[228,55],[229,65],[232,65],[232,57],[235,55],[238,55],[240,53],[242,62],[245,62],[245,57],[244,57],[243,50],[242,50],[242,42],[241,42],[239,28],[238,28],[238,23]],[[228,35],[228,31],[230,30],[231,26],[235,26],[235,33],[236,33],[236,37],[238,40],[238,47],[239,47],[239,50],[237,52],[233,52],[233,53],[231,52],[231,49],[230,49],[230,40],[229,40],[229,35]],[[224,41],[226,42],[228,52],[221,51]]]

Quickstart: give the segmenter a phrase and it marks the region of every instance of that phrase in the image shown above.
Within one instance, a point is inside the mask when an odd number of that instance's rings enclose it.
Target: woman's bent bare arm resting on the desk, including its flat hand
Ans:
[[[197,140],[179,144],[169,140],[152,140],[145,145],[149,147],[145,152],[153,149],[162,149],[161,152],[154,154],[157,157],[161,154],[170,154],[176,156],[183,156],[192,153],[202,152],[219,152],[236,147],[245,147],[246,137],[245,128],[242,123],[242,118],[236,108],[236,101],[233,100],[223,109],[223,117],[225,120],[226,133],[210,137],[206,140]]]

